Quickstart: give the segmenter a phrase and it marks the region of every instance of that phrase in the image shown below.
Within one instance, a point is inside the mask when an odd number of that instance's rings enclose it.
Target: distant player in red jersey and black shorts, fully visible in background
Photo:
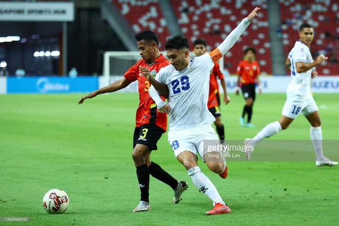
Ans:
[[[245,49],[245,59],[240,61],[237,67],[238,80],[236,84],[235,94],[239,95],[239,83],[243,98],[246,100],[246,105],[243,107],[242,116],[240,117],[240,125],[244,127],[255,127],[251,123],[252,109],[255,101],[255,82],[258,84],[259,94],[261,94],[261,85],[259,80],[260,68],[255,61],[255,49],[249,47]],[[240,82],[241,78],[241,82]],[[247,123],[245,123],[245,115],[247,114]]]

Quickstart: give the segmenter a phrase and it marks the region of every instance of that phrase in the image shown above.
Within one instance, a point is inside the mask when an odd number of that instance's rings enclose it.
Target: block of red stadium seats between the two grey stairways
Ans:
[[[255,8],[250,4],[251,1],[242,1],[241,5],[235,5],[234,1],[217,2],[212,0],[172,0],[171,2],[181,31],[191,42],[191,50],[193,42],[197,38],[205,39],[208,49],[213,50]],[[265,43],[269,43],[267,5],[266,0],[262,2],[257,20],[253,21],[224,58],[225,65],[231,65],[228,68],[231,74],[236,73],[238,63],[243,58],[243,50],[247,46],[255,47],[257,60],[265,62],[265,64],[260,64],[261,71],[272,73],[270,46],[265,45]]]

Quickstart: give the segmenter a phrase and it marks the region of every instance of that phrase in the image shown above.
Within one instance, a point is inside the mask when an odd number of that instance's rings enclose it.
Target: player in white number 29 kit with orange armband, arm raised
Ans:
[[[166,54],[171,65],[161,68],[155,79],[150,76],[148,69],[140,70],[153,84],[149,89],[149,95],[156,102],[159,111],[170,116],[168,142],[176,158],[185,166],[199,191],[213,201],[214,208],[206,212],[208,215],[231,213],[214,184],[201,172],[197,163],[199,154],[202,161],[206,160],[204,162],[212,172],[222,178],[228,175],[227,165],[221,153],[216,153],[216,155],[220,154],[218,161],[210,160],[204,155],[206,153],[203,147],[204,140],[218,141],[218,136],[211,126],[215,118],[207,106],[210,70],[214,63],[234,45],[259,9],[256,7],[212,52],[190,60],[189,41],[181,35],[176,35],[165,43]],[[163,97],[168,97],[168,103],[160,98],[158,92]]]

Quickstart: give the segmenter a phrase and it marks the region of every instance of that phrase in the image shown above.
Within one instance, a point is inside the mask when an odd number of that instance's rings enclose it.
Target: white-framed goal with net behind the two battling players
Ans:
[[[166,52],[161,52],[166,57]],[[190,52],[191,59],[195,57],[194,52]],[[104,86],[111,84],[122,78],[124,73],[133,65],[135,65],[141,56],[139,51],[108,51],[104,53],[103,76]],[[219,60],[221,71],[223,71],[223,57]],[[124,91],[133,90],[138,92],[138,83],[131,83]]]

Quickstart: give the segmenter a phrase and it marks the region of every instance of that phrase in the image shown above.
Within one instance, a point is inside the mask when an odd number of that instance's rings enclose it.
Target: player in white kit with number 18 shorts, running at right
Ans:
[[[287,87],[287,100],[281,112],[279,121],[272,122],[264,127],[254,138],[246,139],[246,145],[255,145],[260,140],[288,128],[293,120],[300,114],[304,115],[311,124],[310,136],[316,155],[316,166],[333,166],[334,162],[324,156],[323,135],[318,107],[311,95],[311,78],[317,76],[315,66],[327,60],[323,54],[317,56],[313,61],[310,52],[310,45],[314,37],[313,27],[309,24],[302,24],[299,27],[300,39],[295,42],[294,47],[288,54],[286,68],[291,70],[292,80]],[[245,152],[247,160],[250,160],[252,150]]]

